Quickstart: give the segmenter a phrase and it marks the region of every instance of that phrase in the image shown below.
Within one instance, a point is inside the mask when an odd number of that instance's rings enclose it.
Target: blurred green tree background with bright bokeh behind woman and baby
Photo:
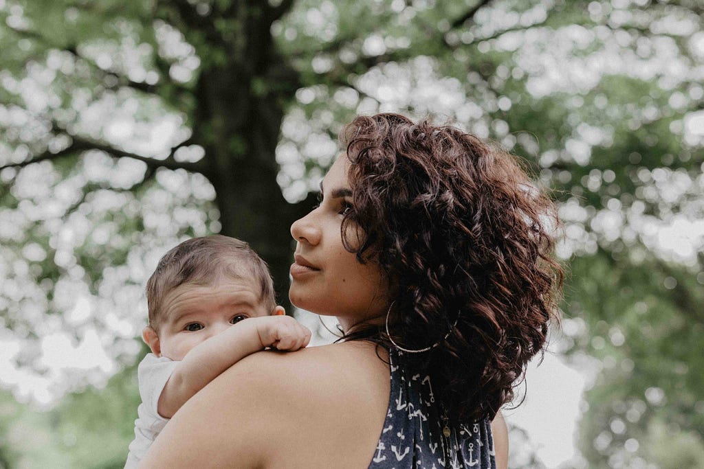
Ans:
[[[379,111],[498,141],[560,207],[564,319],[510,466],[704,467],[703,25],[699,0],[0,0],[0,467],[121,468],[158,258],[243,238],[286,304],[289,225]]]

